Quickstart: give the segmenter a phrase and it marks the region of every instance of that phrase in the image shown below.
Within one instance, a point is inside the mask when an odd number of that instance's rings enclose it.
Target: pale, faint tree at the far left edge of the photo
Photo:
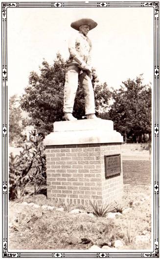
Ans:
[[[22,109],[17,95],[9,99],[9,144],[21,138],[21,132],[26,126],[27,120],[22,116]]]

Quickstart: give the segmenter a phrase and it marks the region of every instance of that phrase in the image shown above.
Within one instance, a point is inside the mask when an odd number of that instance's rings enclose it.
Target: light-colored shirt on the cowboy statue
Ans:
[[[83,33],[79,32],[70,38],[69,53],[68,63],[75,62],[80,65],[85,62],[91,66],[91,40]]]

